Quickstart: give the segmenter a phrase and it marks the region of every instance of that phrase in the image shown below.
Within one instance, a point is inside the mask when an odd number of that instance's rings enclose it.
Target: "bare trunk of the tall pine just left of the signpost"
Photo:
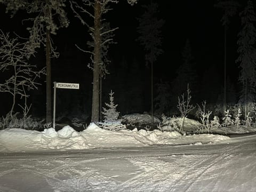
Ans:
[[[50,31],[46,29],[46,123],[52,122],[51,91],[51,42]]]

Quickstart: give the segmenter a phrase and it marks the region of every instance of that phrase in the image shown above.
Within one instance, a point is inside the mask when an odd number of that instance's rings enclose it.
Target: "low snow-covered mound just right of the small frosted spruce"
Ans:
[[[151,124],[152,117],[149,114],[129,114],[122,116],[122,120],[129,123]],[[154,123],[160,123],[160,119],[154,117]]]

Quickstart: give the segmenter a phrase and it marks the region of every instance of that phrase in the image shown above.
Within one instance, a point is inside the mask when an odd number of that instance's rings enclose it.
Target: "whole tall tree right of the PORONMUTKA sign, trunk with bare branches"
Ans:
[[[93,69],[92,122],[99,121],[100,78],[108,73],[106,54],[109,43],[113,42],[113,31],[117,29],[106,28],[109,25],[106,25],[103,15],[111,10],[110,4],[118,2],[119,0],[82,0],[80,3],[70,1],[71,9],[82,24],[89,29],[93,39],[93,42],[89,44],[91,49],[88,51],[78,47],[82,51],[91,54],[91,63],[88,66]],[[137,0],[127,0],[127,2],[133,5],[137,3]],[[84,19],[82,14],[87,15],[87,18]],[[91,18],[91,21],[89,18]],[[93,22],[93,25],[90,25],[89,22]]]

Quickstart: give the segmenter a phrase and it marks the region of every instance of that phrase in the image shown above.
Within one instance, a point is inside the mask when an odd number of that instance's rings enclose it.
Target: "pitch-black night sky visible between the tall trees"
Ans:
[[[139,0],[139,3],[130,6],[126,1],[114,5],[107,19],[112,27],[119,27],[116,31],[115,41],[109,49],[110,75],[103,80],[103,102],[107,102],[110,90],[115,92],[115,101],[119,104],[121,114],[143,113],[150,110],[150,70],[145,66],[143,47],[138,41],[136,18],[143,13],[142,4],[149,1]],[[209,101],[218,103],[223,87],[223,37],[224,28],[220,21],[221,10],[214,7],[217,1],[158,1],[158,18],[165,20],[162,29],[164,53],[154,63],[155,90],[159,82],[171,82],[177,76],[177,69],[182,65],[182,51],[185,42],[189,39],[194,57],[194,69],[198,75],[197,95],[193,95],[195,102]],[[241,7],[245,1],[241,1]],[[255,4],[255,1],[253,1]],[[239,12],[242,9],[239,9]],[[75,44],[86,49],[86,42],[90,39],[87,28],[74,17],[67,6],[70,25],[66,29],[57,31],[52,36],[55,46],[60,52],[58,59],[52,59],[52,82],[79,83],[80,90],[57,91],[57,116],[61,113],[68,115],[91,113],[92,97],[92,71],[87,68],[89,55],[81,52]],[[25,16],[22,11],[10,19],[5,14],[5,7],[0,6],[3,31],[15,31],[22,36],[28,35],[26,26],[21,25],[21,18]],[[241,19],[236,15],[231,19],[227,31],[227,76],[230,84],[234,85],[237,93],[238,63],[237,59],[237,33],[241,29]],[[39,49],[36,57],[31,60],[38,66],[45,65],[44,50]],[[45,114],[45,79],[41,79],[42,86],[38,91],[31,92],[35,116]],[[184,90],[186,91],[186,90]],[[155,94],[156,91],[155,91]],[[156,95],[155,95],[156,96]],[[5,103],[3,114],[10,108],[5,102],[7,94],[2,94]],[[175,98],[176,95],[175,95]],[[176,101],[175,101],[176,102]],[[78,107],[75,107],[78,106]],[[174,106],[175,107],[175,106]],[[64,112],[65,111],[65,112]],[[68,111],[68,112],[67,112]]]

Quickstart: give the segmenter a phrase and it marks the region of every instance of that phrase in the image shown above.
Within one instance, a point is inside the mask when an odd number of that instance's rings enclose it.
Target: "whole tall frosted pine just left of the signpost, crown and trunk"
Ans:
[[[6,12],[12,16],[20,9],[26,10],[33,17],[23,20],[30,21],[27,27],[30,33],[31,48],[36,49],[43,45],[46,56],[46,122],[51,122],[51,58],[59,57],[55,51],[51,34],[56,35],[61,27],[68,27],[69,21],[65,12],[66,0],[0,0],[6,5]],[[58,24],[57,24],[58,22]],[[28,24],[30,25],[30,24]]]

